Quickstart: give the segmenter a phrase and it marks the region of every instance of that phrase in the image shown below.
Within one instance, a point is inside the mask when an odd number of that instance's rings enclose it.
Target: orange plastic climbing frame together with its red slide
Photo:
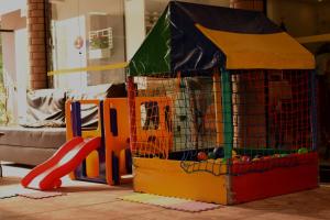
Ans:
[[[81,128],[81,109],[98,107],[98,125]],[[67,143],[22,179],[24,187],[48,190],[61,177],[118,185],[132,179],[125,98],[66,102]]]

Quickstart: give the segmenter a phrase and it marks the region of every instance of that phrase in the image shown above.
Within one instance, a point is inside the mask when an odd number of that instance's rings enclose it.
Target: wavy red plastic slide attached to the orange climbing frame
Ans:
[[[79,164],[101,144],[101,138],[84,140],[74,138],[66,142],[46,162],[32,169],[22,180],[22,186],[41,190],[50,190],[61,185],[61,177],[73,172]]]

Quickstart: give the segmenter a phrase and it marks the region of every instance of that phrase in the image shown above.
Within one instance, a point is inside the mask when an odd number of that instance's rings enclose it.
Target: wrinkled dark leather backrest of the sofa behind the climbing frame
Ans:
[[[65,127],[66,100],[105,99],[127,97],[124,84],[89,86],[79,90],[40,89],[28,94],[26,119],[20,123],[25,128]],[[82,128],[96,128],[98,108],[81,107]]]

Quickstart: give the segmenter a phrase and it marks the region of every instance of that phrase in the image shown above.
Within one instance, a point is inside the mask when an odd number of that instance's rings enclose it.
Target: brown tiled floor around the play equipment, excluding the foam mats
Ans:
[[[4,178],[0,190],[19,187],[20,177],[28,170],[4,166]],[[167,210],[160,207],[127,202],[119,196],[132,193],[130,185],[109,187],[106,185],[64,180],[62,191],[66,196],[41,200],[14,197],[0,200],[0,220],[70,220],[70,219],[205,219],[205,220],[308,220],[330,219],[330,186],[274,197],[239,206],[221,207],[199,213]]]

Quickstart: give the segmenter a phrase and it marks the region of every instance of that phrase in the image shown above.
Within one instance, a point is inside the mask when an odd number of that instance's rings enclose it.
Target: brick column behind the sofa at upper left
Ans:
[[[30,53],[30,88],[47,88],[46,30],[50,15],[45,12],[47,0],[28,0],[28,34]],[[47,18],[47,19],[45,19]]]

